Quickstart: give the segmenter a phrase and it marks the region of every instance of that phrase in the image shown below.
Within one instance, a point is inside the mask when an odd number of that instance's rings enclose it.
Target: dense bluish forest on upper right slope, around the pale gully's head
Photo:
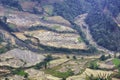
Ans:
[[[111,17],[111,14],[116,16],[120,12],[119,0],[65,0],[63,3],[55,3],[54,7],[55,14],[70,22],[87,12],[86,23],[90,26],[94,40],[109,50],[120,51],[120,28]],[[110,13],[103,13],[106,7]]]

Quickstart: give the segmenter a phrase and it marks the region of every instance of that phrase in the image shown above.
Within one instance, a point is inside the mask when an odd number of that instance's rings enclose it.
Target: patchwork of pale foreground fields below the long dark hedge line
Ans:
[[[17,54],[20,53],[21,54]],[[9,53],[9,54],[8,54]],[[16,54],[15,54],[16,53]],[[25,56],[27,56],[25,58]],[[7,55],[7,56],[6,56]],[[44,67],[41,67],[40,69],[34,68],[33,64],[41,62],[47,55],[51,55],[53,60],[51,60],[48,65],[47,69]],[[74,56],[76,58],[74,58]],[[2,73],[1,79],[17,79],[17,80],[24,80],[24,76],[22,76],[22,73],[19,73],[16,75],[10,75],[12,71],[16,68],[21,67],[22,70],[24,70],[25,73],[28,73],[28,78],[30,80],[62,80],[62,78],[66,78],[66,80],[82,80],[85,79],[86,75],[94,75],[94,76],[108,76],[114,73],[114,67],[111,69],[109,66],[114,64],[110,64],[110,61],[112,62],[111,58],[110,60],[104,61],[105,65],[108,67],[101,68],[100,70],[94,70],[90,69],[89,63],[93,62],[94,60],[97,60],[97,63],[100,66],[103,66],[103,61],[99,61],[100,55],[95,56],[83,56],[83,55],[67,55],[67,54],[38,54],[38,53],[32,53],[27,50],[21,50],[21,49],[14,49],[11,50],[5,54],[2,54],[1,61],[0,61],[0,72]],[[29,57],[32,57],[29,59]],[[116,60],[116,59],[115,59]],[[115,61],[117,63],[117,60]],[[108,63],[109,62],[109,63]],[[5,67],[2,67],[5,66]],[[9,67],[12,67],[9,69]],[[69,70],[74,73],[74,75],[70,75]],[[7,75],[6,77],[4,75]],[[19,79],[18,79],[19,78]],[[115,79],[112,79],[115,80]],[[116,79],[117,80],[117,79]]]

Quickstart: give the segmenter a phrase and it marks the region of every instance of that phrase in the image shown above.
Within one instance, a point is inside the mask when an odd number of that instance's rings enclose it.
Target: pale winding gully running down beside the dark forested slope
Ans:
[[[85,33],[87,40],[89,43],[93,46],[95,46],[98,50],[104,51],[105,53],[113,54],[113,51],[110,51],[102,46],[99,46],[94,39],[92,38],[92,35],[89,30],[89,26],[85,23],[85,19],[87,17],[86,14],[79,15],[78,17],[75,18],[75,23],[80,26],[81,30]]]

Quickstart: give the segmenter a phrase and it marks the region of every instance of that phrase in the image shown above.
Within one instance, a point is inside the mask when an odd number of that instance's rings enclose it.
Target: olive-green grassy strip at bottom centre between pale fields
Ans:
[[[67,77],[74,75],[74,73],[71,70],[68,70],[66,72],[59,72],[54,69],[46,69],[45,73],[51,74],[55,77],[59,77],[59,78],[63,78],[63,79],[66,79]]]

